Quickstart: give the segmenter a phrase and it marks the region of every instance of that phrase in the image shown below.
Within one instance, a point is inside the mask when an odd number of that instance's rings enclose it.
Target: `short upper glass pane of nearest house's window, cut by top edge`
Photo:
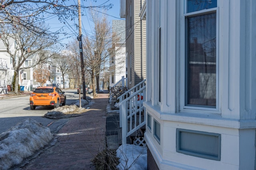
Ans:
[[[187,0],[187,12],[195,12],[217,7],[217,0]]]

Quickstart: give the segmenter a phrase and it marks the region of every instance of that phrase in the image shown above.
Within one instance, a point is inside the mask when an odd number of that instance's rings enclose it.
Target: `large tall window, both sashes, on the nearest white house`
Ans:
[[[185,106],[217,105],[216,7],[217,0],[187,0]]]

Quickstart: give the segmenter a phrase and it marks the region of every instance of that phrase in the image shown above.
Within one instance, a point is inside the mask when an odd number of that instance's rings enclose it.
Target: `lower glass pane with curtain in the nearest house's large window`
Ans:
[[[186,105],[216,107],[216,13],[187,18]]]

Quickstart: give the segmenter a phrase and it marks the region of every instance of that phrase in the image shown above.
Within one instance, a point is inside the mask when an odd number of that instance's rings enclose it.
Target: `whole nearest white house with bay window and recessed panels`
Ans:
[[[148,169],[256,167],[256,1],[146,0]]]

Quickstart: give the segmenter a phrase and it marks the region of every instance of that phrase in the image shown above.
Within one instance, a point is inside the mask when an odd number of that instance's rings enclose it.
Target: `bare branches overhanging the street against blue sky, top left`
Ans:
[[[113,4],[107,4],[105,0],[98,6],[81,6],[84,10],[86,8],[104,8],[110,9]],[[67,5],[68,4],[68,5]],[[75,1],[69,0],[1,0],[0,4],[0,23],[13,23],[28,29],[35,34],[44,32],[47,35],[62,33],[63,28],[55,32],[49,31],[40,25],[34,23],[44,22],[49,17],[57,16],[58,20],[66,23],[66,20],[75,20],[78,13],[78,5]],[[30,22],[27,18],[34,18],[34,22]],[[36,30],[35,30],[36,29]],[[68,35],[63,32],[63,34]]]

